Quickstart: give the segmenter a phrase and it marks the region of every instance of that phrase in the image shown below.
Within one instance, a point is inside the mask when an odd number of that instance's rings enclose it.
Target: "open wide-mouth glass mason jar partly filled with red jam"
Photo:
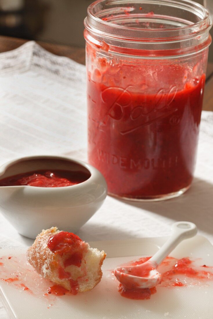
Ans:
[[[190,187],[211,25],[190,0],[88,7],[88,161],[109,194],[160,200]]]

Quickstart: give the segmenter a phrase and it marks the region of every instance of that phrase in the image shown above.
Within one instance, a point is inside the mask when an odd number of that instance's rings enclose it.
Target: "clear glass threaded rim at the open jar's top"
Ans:
[[[200,21],[196,23],[190,23],[184,26],[174,27],[174,28],[139,28],[132,26],[123,26],[115,23],[111,23],[103,18],[107,10],[102,12],[99,10],[95,12],[95,9],[100,9],[101,4],[111,5],[111,4],[159,4],[159,0],[97,0],[90,4],[87,8],[87,18],[85,18],[85,28],[88,31],[102,35],[105,38],[121,39],[122,41],[141,41],[141,42],[159,42],[159,41],[180,41],[184,38],[191,38],[198,36],[209,29],[212,26],[212,19],[209,15],[209,11],[204,8],[201,4],[198,4],[192,0],[161,0],[160,5],[175,6],[178,8],[185,9],[186,11],[193,11],[194,14],[197,13],[197,17]],[[130,12],[134,10],[134,7],[119,7],[123,8],[123,12]],[[125,12],[125,13],[126,13]],[[97,14],[98,13],[98,14]],[[154,14],[155,16],[155,14]],[[163,17],[163,16],[162,16]]]

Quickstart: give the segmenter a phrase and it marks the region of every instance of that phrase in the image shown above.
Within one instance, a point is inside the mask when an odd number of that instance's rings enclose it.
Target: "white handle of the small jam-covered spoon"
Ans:
[[[149,259],[149,261],[156,264],[156,266],[159,266],[182,240],[191,238],[197,234],[196,225],[187,221],[176,222],[171,226],[171,229],[171,237],[156,252],[156,254]]]

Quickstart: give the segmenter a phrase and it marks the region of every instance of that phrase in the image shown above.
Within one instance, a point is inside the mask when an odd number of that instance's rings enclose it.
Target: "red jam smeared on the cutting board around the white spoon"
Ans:
[[[151,257],[142,257],[139,260],[128,264],[129,266],[136,266],[145,263]],[[207,267],[207,270],[203,270],[203,267]],[[195,266],[194,261],[189,258],[176,259],[173,257],[167,257],[163,263],[159,266],[158,271],[162,275],[162,282],[159,287],[182,287],[187,285],[196,285],[199,283],[208,283],[213,280],[213,267],[206,265]],[[143,276],[140,272],[135,271],[135,276]],[[187,283],[187,280],[189,282]],[[151,295],[156,293],[156,287],[153,288],[133,288],[129,289],[126,286],[119,284],[118,292],[122,297],[135,300],[150,299]]]

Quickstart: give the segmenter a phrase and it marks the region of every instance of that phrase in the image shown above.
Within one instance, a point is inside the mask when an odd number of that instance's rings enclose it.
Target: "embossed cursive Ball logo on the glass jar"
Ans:
[[[131,92],[132,85],[125,89],[120,87],[108,87],[101,93],[103,103],[110,105],[103,121],[100,123],[100,130],[104,130],[109,119],[115,121],[128,121],[128,128],[120,130],[121,135],[126,135],[141,127],[157,122],[165,117],[169,117],[178,109],[173,107],[172,102],[178,91],[176,86],[172,86],[168,93],[164,89],[158,90],[156,94],[141,95],[143,98],[135,106],[136,98]],[[146,99],[149,98],[147,102]],[[134,104],[134,105],[133,105]],[[169,123],[177,125],[180,121],[178,116],[170,116]]]

